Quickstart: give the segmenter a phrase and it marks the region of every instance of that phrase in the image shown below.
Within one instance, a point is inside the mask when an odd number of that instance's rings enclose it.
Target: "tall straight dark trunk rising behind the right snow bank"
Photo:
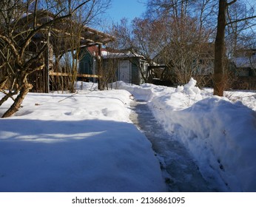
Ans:
[[[214,95],[223,96],[224,45],[227,0],[219,0],[218,26],[215,39]]]

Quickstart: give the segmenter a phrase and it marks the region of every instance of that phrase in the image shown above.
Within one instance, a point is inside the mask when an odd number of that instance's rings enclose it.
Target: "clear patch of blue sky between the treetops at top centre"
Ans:
[[[124,17],[132,20],[140,17],[146,10],[145,5],[140,2],[141,0],[112,0],[111,7],[106,13],[114,22],[119,22]]]

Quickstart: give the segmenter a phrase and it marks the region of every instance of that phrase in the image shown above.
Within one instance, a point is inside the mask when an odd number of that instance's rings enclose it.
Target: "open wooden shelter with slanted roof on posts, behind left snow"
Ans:
[[[33,13],[26,18],[30,16],[33,20]],[[38,11],[37,16],[38,27],[55,18],[52,13],[44,10]],[[36,52],[37,48],[40,48],[39,44],[46,42],[47,50],[44,52],[44,57],[38,60],[44,61],[45,67],[33,72],[28,78],[30,84],[33,84],[32,91],[70,90],[76,78],[99,78],[98,74],[78,70],[81,47],[94,46],[97,50],[101,50],[102,45],[113,40],[112,35],[82,26],[69,18],[59,21],[58,24],[50,25],[48,30],[33,36],[31,52]]]

